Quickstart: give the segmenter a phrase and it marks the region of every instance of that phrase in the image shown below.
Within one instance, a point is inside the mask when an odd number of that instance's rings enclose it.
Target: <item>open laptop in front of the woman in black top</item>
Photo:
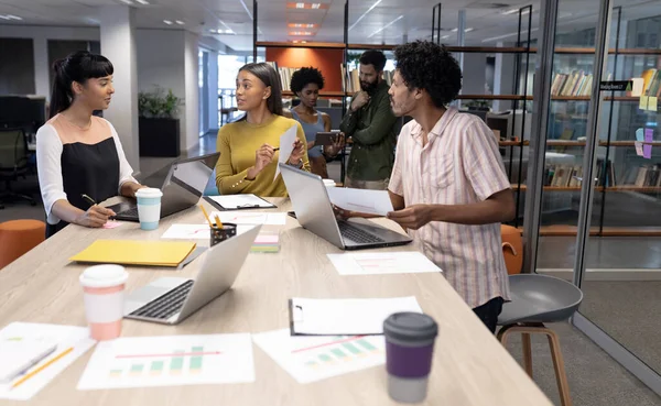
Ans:
[[[173,162],[163,180],[161,218],[185,210],[199,201],[214,173],[219,152]],[[136,202],[120,202],[108,207],[118,220],[139,221]]]

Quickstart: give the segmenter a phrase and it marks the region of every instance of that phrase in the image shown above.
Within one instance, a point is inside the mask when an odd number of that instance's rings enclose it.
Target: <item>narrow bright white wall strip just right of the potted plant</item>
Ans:
[[[185,32],[186,132],[182,134],[182,149],[189,150],[199,142],[199,83],[198,35]]]

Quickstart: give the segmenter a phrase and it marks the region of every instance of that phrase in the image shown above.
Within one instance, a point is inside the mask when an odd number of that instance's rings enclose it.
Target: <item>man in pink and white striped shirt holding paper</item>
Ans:
[[[500,222],[514,217],[498,142],[478,117],[447,107],[462,72],[444,47],[418,41],[395,48],[394,58],[391,108],[413,120],[398,139],[388,218],[495,332],[509,300]]]

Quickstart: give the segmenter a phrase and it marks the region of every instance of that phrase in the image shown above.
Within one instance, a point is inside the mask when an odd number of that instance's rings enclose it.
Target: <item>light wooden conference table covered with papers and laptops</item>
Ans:
[[[288,210],[286,199],[271,199]],[[207,210],[213,207],[204,201]],[[272,210],[270,210],[272,211]],[[387,219],[376,220],[399,228]],[[138,223],[87,229],[69,226],[0,271],[0,328],[12,321],[85,326],[78,275],[85,265],[68,257],[96,239],[159,240],[173,223],[203,223],[191,208],[161,221],[158,230]],[[398,297],[414,295],[440,327],[430,391],[424,405],[551,405],[538,386],[489,333],[440,274],[340,276],[326,253],[340,253],[302,229],[288,216],[280,229],[278,254],[249,254],[231,290],[178,326],[124,320],[122,337],[262,332],[289,326],[288,299]],[[401,229],[399,229],[401,230]],[[208,241],[198,241],[207,245]],[[411,251],[413,245],[380,251]],[[129,290],[161,276],[194,276],[196,259],[182,271],[129,267]],[[0,405],[391,405],[384,366],[376,366],[311,384],[299,384],[260,348],[253,345],[256,381],[249,384],[188,385],[107,391],[77,391],[94,349],[76,360],[29,402]]]

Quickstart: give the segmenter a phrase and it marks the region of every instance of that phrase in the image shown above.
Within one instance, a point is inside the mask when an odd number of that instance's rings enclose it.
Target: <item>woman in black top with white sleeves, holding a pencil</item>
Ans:
[[[133,177],[119,136],[107,120],[93,116],[110,105],[113,67],[101,55],[77,52],[54,65],[51,119],[36,133],[39,183],[46,210],[46,237],[68,223],[102,227],[112,210],[104,201],[134,197],[143,187]]]

